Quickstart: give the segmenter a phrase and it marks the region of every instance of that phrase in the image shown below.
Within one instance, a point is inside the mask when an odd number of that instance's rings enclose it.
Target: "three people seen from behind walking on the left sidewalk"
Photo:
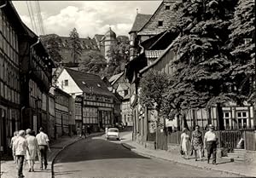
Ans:
[[[13,151],[14,162],[17,164],[18,178],[24,177],[23,165],[27,162],[28,172],[34,172],[36,157],[40,161],[40,169],[47,169],[47,152],[49,149],[49,138],[44,133],[44,128],[39,129],[38,135],[32,129],[15,131],[10,142]]]

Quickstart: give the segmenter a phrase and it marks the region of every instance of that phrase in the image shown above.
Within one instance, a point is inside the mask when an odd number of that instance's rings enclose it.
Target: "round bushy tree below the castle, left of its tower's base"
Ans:
[[[107,61],[99,51],[89,51],[79,62],[79,70],[83,72],[104,75],[103,71],[107,67]]]

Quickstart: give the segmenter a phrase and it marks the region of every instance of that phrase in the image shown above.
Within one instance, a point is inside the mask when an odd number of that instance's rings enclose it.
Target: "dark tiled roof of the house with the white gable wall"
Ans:
[[[114,97],[113,93],[108,90],[107,84],[102,81],[100,76],[91,73],[75,71],[67,67],[64,67],[64,69],[71,76],[71,78],[73,78],[74,82],[77,83],[79,88],[82,89],[84,93],[90,94],[91,88],[93,88],[93,93],[96,95]]]

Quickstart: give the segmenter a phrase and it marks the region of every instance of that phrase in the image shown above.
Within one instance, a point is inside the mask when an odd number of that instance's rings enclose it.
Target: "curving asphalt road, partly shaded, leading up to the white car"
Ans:
[[[126,149],[120,141],[106,141],[104,136],[69,146],[55,162],[55,178],[224,176],[228,175],[145,158]]]

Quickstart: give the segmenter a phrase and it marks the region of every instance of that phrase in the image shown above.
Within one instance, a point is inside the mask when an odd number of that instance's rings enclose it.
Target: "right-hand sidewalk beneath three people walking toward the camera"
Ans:
[[[149,158],[160,158],[166,161],[171,161],[176,164],[185,164],[194,166],[199,169],[212,169],[228,173],[230,175],[240,175],[247,177],[256,176],[256,165],[255,164],[241,164],[236,162],[227,162],[221,158],[217,159],[217,165],[207,164],[207,158],[204,161],[195,162],[195,157],[190,157],[188,160],[181,157],[178,146],[173,146],[170,151],[164,150],[150,150],[145,148],[143,145],[131,141],[131,134],[125,135],[125,140],[122,141],[122,145],[130,149],[132,152],[137,152],[144,157]],[[211,163],[211,162],[210,162]]]

